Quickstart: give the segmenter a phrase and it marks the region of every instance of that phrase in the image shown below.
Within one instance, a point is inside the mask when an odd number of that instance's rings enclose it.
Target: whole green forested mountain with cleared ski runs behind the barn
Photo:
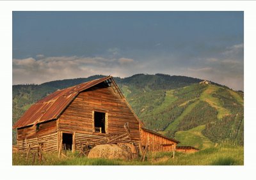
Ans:
[[[13,86],[13,123],[47,94],[100,77]],[[180,146],[205,149],[223,142],[243,145],[243,91],[164,74],[114,79],[145,126],[180,140]],[[15,137],[13,131],[13,143]]]

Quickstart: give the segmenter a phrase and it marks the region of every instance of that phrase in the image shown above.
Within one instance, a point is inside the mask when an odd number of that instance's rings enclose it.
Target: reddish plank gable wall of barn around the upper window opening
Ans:
[[[108,113],[106,134],[93,132],[93,110]],[[58,119],[58,128],[60,131],[76,132],[76,135],[80,134],[89,142],[95,142],[96,139],[102,139],[104,136],[125,133],[124,124],[127,122],[131,139],[138,144],[140,140],[139,123],[125,101],[118,93],[115,93],[112,87],[95,86],[79,93],[68,105]]]

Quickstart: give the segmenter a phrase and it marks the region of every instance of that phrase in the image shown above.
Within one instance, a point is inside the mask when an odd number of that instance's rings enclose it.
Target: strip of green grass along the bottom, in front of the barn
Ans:
[[[13,153],[13,165],[243,165],[243,146],[218,146],[204,149],[193,154],[175,153],[148,153],[146,160],[132,161],[89,159],[77,157],[77,153],[67,153],[67,158],[58,158],[57,153],[44,154],[45,161],[33,164],[32,158],[26,160],[19,153]]]

